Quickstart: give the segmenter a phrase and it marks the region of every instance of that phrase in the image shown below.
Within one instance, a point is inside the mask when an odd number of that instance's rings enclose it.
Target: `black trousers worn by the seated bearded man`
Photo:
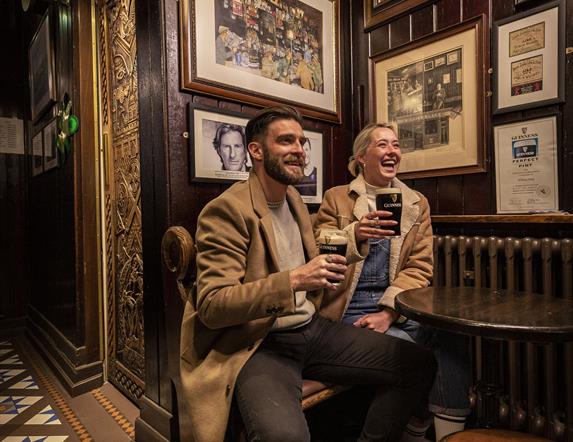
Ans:
[[[359,440],[396,442],[427,401],[435,371],[431,352],[417,344],[315,316],[298,329],[269,333],[239,373],[235,400],[249,441],[302,442],[310,440],[303,378],[373,385]]]

